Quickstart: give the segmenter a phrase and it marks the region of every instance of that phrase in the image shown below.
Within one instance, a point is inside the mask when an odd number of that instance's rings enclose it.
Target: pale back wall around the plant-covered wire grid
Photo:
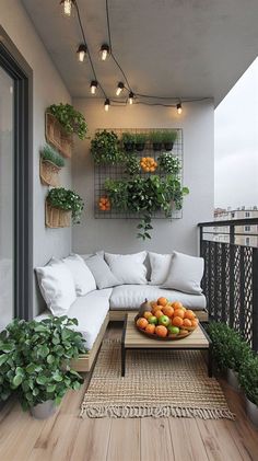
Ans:
[[[183,128],[184,130],[184,184],[190,188],[185,198],[183,219],[154,220],[150,242],[136,238],[137,220],[94,219],[94,174],[90,154],[90,140],[78,143],[72,163],[73,186],[85,199],[86,211],[81,226],[74,227],[72,247],[78,253],[104,249],[115,253],[148,249],[171,252],[173,249],[197,254],[197,223],[211,220],[214,189],[214,142],[211,102],[184,104],[178,116],[174,108],[132,105],[110,107],[104,112],[103,100],[74,100],[94,136],[96,128]]]

